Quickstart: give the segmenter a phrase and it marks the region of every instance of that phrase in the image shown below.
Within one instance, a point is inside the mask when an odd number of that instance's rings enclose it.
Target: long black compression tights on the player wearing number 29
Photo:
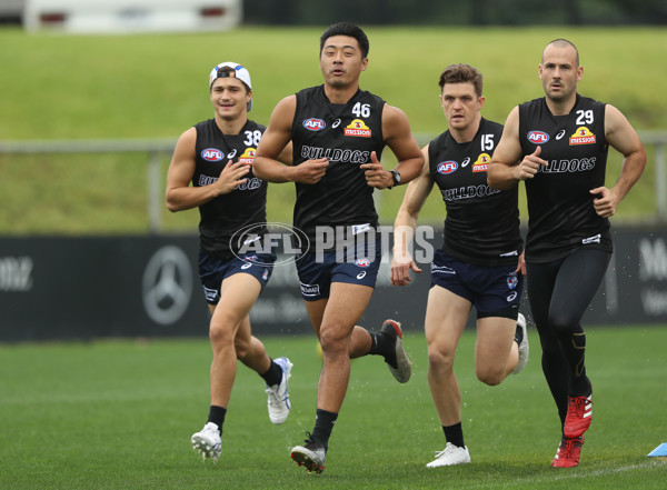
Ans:
[[[528,263],[528,300],[542,349],[542,371],[561,423],[568,394],[588,394],[581,317],[598,290],[611,253],[579,249],[565,259]]]

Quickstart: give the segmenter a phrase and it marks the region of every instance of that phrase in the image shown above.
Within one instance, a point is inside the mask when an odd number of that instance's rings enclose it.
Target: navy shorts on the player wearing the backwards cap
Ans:
[[[272,253],[241,253],[225,260],[199,250],[199,279],[206,302],[218,304],[222,281],[240,272],[257,278],[263,289],[269,282],[275,261],[276,256]]]

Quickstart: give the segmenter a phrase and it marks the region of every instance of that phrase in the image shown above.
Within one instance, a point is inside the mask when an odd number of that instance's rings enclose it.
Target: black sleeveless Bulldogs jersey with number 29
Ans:
[[[525,102],[519,141],[524,156],[540,146],[549,162],[526,180],[526,260],[558,260],[583,246],[610,252],[609,220],[595,212],[589,192],[605,184],[605,103],[577,94],[569,114],[552,116],[544,97]]]

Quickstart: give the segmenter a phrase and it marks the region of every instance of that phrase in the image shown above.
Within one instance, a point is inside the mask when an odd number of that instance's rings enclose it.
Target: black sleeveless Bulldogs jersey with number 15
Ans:
[[[475,138],[457,143],[449,130],[428,144],[430,176],[447,208],[442,250],[478,266],[517,263],[522,251],[518,188],[487,183],[502,126],[481,119]]]

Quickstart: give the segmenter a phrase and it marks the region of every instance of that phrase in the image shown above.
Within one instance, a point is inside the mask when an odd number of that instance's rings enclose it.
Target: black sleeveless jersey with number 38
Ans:
[[[266,127],[248,120],[238,134],[222,134],[215,119],[199,122],[197,129],[196,169],[192,186],[208,186],[220,176],[227,162],[241,161],[252,166],[259,139]],[[199,240],[201,249],[223,259],[233,257],[238,243],[231,246],[231,238],[239,229],[265,223],[267,183],[255,177],[251,170],[245,178],[246,183],[238,186],[227,194],[218,196],[199,207]],[[258,234],[266,228],[253,229]]]

